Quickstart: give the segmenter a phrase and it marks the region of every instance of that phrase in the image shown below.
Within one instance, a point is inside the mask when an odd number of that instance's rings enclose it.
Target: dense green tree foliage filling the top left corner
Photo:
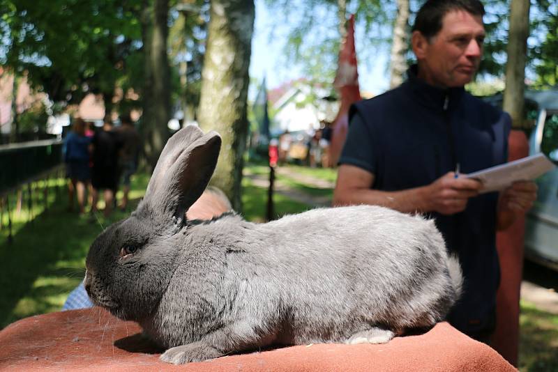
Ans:
[[[0,61],[27,72],[54,102],[80,102],[86,93],[107,102],[142,46],[138,1],[3,0],[0,9]]]

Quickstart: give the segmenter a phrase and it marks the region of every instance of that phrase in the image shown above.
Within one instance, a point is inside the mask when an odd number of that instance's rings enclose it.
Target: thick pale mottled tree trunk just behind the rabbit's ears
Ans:
[[[223,189],[238,211],[248,134],[246,99],[254,17],[253,0],[211,1],[198,112],[202,130],[216,130],[223,138],[211,184]]]

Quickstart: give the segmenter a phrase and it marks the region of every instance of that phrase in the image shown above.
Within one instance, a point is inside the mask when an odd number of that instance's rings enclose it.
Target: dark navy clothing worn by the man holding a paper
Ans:
[[[462,88],[429,86],[411,69],[398,88],[351,107],[339,163],[374,173],[373,189],[424,186],[454,171],[457,163],[462,173],[472,173],[506,162],[510,127],[508,114]],[[467,334],[493,327],[497,199],[495,192],[482,194],[469,199],[463,212],[428,216],[460,258],[465,291],[448,319]]]

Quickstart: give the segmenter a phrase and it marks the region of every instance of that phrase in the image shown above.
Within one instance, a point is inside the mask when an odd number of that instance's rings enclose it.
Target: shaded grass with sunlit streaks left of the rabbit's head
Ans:
[[[115,210],[110,218],[100,213],[91,221],[88,215],[66,211],[65,193],[53,192],[49,209],[36,215],[32,223],[20,222],[13,242],[0,240],[0,328],[20,318],[59,311],[68,293],[83,279],[91,242],[103,227],[129,215]],[[133,199],[130,206],[139,200]]]

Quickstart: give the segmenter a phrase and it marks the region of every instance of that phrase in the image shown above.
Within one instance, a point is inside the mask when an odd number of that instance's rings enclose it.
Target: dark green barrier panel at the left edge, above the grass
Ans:
[[[0,195],[41,178],[62,164],[62,141],[1,145]]]

